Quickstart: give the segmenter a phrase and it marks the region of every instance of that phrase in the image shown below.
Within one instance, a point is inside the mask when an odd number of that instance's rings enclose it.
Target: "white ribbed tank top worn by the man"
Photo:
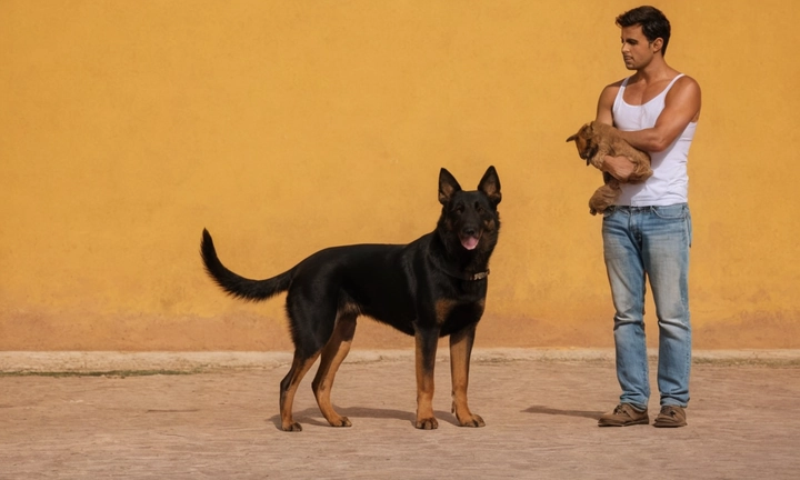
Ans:
[[[683,77],[683,73],[672,79],[670,84],[656,98],[641,106],[628,104],[622,99],[630,77],[624,79],[611,110],[614,127],[626,131],[652,128],[664,108],[667,92],[672,88],[676,80],[681,77]],[[697,122],[689,123],[666,150],[649,152],[653,170],[652,177],[643,183],[622,184],[622,194],[617,200],[617,204],[648,207],[686,203],[689,193],[687,160],[696,128]]]

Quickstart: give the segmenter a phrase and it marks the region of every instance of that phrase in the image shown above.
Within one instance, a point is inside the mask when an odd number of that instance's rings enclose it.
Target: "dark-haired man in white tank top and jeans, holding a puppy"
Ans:
[[[614,314],[620,403],[601,427],[649,423],[650,387],[644,340],[646,279],[659,326],[658,388],[661,411],[654,427],[683,427],[689,402],[691,327],[687,157],[700,117],[700,87],[664,62],[670,23],[652,7],[617,18],[622,59],[631,77],[603,89],[597,120],[613,124],[633,147],[650,153],[653,176],[622,184],[616,206],[603,213],[603,257]],[[624,180],[624,158],[607,157],[604,170]]]

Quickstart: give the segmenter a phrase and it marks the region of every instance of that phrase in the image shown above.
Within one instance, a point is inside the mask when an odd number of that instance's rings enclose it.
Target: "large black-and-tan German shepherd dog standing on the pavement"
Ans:
[[[462,427],[483,427],[467,404],[469,363],[476,327],[483,313],[489,258],[500,230],[497,206],[502,196],[494,167],[478,190],[463,191],[446,169],[439,172],[441,217],[436,230],[408,244],[353,244],[313,253],[267,280],[249,280],[228,270],[203,230],[206,271],[232,297],[266,300],[287,291],[294,357],[280,383],[281,428],[300,431],[292,419],[298,384],[321,357],[311,388],[333,427],[350,427],[336,412],[330,393],[347,357],[359,316],[371,317],[414,337],[417,370],[416,427],[431,430],[433,367],[440,337],[450,336],[452,412]]]

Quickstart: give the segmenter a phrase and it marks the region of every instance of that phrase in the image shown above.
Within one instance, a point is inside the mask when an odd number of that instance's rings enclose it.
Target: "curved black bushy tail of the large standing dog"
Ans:
[[[217,250],[208,230],[203,229],[203,240],[200,243],[200,256],[206,264],[206,271],[228,294],[250,300],[267,300],[289,289],[291,270],[267,280],[250,280],[228,270],[217,258]]]

